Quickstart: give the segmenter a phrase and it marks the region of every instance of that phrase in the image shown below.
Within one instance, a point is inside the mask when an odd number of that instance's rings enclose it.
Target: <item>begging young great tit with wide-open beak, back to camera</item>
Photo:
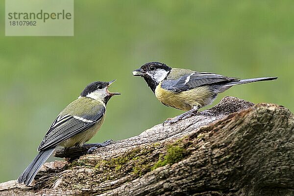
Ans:
[[[114,95],[120,95],[107,89],[114,81],[89,84],[76,100],[60,112],[38,147],[39,154],[20,175],[18,183],[30,185],[57,146],[82,147],[97,133],[105,118],[107,101]],[[110,143],[111,140],[93,144],[88,153]]]

